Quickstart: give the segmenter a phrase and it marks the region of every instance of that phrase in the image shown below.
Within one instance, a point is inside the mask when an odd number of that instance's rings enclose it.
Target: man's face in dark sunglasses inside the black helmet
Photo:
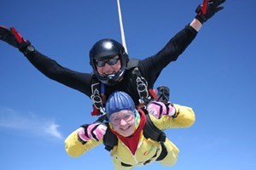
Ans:
[[[116,55],[111,59],[96,60],[96,69],[101,77],[113,75],[121,68],[119,56]]]

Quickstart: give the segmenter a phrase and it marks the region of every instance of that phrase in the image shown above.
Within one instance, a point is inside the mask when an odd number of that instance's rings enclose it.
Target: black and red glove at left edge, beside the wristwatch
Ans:
[[[31,44],[29,41],[26,41],[13,26],[10,27],[10,29],[0,26],[0,40],[9,43],[15,48],[19,48],[22,53],[24,53],[26,47]]]

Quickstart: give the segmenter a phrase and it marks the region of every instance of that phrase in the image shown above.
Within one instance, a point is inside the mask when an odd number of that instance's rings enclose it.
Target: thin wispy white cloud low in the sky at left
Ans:
[[[31,112],[21,113],[0,107],[0,127],[24,131],[51,139],[63,139],[58,130],[59,125],[55,124],[53,120],[40,118]]]

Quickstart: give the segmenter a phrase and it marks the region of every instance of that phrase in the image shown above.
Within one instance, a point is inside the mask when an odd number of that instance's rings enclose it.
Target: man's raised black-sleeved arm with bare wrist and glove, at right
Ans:
[[[219,10],[224,7],[220,6],[225,0],[204,0],[196,9],[195,19],[186,26],[182,31],[179,31],[172,39],[167,42],[157,54],[143,59],[139,62],[139,69],[148,81],[148,87],[152,88],[155,80],[166,65],[175,61],[177,57],[189,46],[195,39],[197,32],[201,29],[204,22],[212,18]],[[148,74],[151,71],[151,74]]]

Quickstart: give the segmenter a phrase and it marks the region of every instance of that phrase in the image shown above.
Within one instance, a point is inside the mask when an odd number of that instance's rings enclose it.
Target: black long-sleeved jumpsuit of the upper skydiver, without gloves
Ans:
[[[139,71],[142,76],[148,81],[148,88],[154,88],[154,82],[160,75],[160,71],[166,67],[170,62],[175,61],[179,54],[182,54],[189,43],[195,39],[197,31],[191,26],[185,26],[182,31],[179,31],[175,37],[167,42],[166,46],[162,48],[157,54],[154,54],[146,59],[142,59],[138,63]],[[38,51],[27,54],[26,58],[34,65],[38,71],[41,71],[46,77],[60,82],[69,88],[79,90],[81,93],[90,97],[91,95],[91,80],[90,73],[82,73],[72,71],[61,65],[55,60],[49,59],[44,54]],[[125,71],[124,78],[113,86],[105,86],[105,94],[108,96],[113,91],[124,91],[131,95],[131,98],[138,104],[139,95],[137,93],[136,84],[129,81],[129,71]]]

